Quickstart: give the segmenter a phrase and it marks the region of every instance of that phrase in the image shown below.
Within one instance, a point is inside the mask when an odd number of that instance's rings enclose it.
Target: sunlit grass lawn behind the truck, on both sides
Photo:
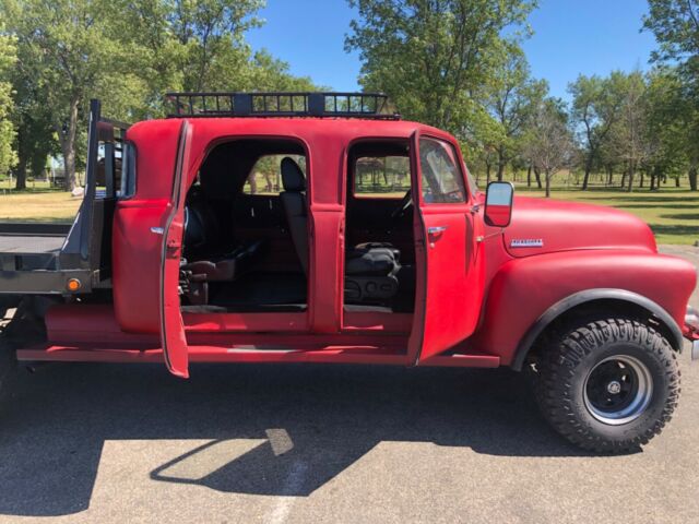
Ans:
[[[80,199],[46,184],[26,191],[8,191],[0,182],[0,222],[72,222]],[[29,183],[31,186],[31,183]],[[518,194],[543,196],[543,191],[517,186]],[[590,191],[554,188],[553,199],[574,200],[592,204],[611,205],[632,213],[655,233],[657,243],[691,245],[699,240],[699,192],[687,189],[663,188],[657,192],[639,189],[626,193],[607,188]]]

